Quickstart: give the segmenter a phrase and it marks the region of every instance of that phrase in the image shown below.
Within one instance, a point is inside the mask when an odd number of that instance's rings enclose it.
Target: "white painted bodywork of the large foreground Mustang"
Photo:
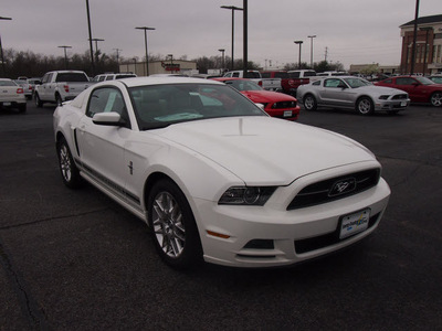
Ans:
[[[390,195],[382,178],[357,194],[287,210],[309,184],[380,171],[375,156],[358,142],[259,113],[141,130],[127,88],[168,84],[229,88],[182,77],[112,81],[94,85],[54,113],[55,140],[64,137],[67,141],[81,175],[138,217],[148,221],[146,183],[154,173],[162,173],[179,186],[191,207],[204,260],[238,267],[282,266],[317,257],[358,242],[378,226]],[[130,128],[97,125],[85,116],[91,92],[103,86],[122,90]],[[276,189],[261,206],[219,203],[228,189],[244,185]],[[298,241],[334,236],[344,216],[367,210],[373,216],[369,228],[296,253]],[[272,247],[248,245],[256,241]]]

